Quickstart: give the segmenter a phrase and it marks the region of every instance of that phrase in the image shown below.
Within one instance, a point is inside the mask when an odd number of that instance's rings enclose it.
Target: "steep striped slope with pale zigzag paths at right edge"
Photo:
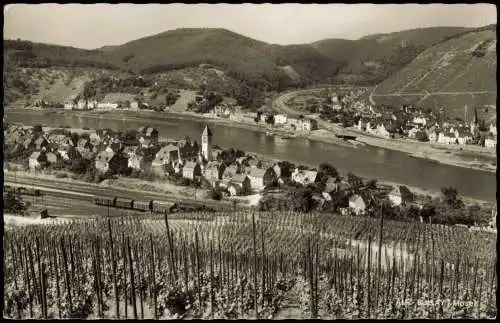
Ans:
[[[378,103],[443,105],[449,117],[464,117],[464,106],[480,108],[486,119],[496,110],[496,26],[458,35],[430,47],[404,69],[379,84]]]

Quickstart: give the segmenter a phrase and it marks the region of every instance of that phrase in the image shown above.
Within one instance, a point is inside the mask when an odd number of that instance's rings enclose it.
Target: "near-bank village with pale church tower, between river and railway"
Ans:
[[[441,203],[406,186],[381,185],[351,173],[341,176],[329,162],[316,169],[222,149],[213,144],[208,126],[200,134],[201,144],[188,137],[161,141],[158,130],[147,126],[126,132],[100,129],[77,133],[7,124],[4,136],[6,161],[20,162],[34,172],[66,169],[96,183],[128,176],[205,189],[214,200],[258,196],[257,207],[262,211],[376,216],[383,207],[388,218],[405,221],[429,221],[435,214],[439,216],[433,223],[443,224],[489,225],[493,219],[492,210],[464,207],[452,188],[443,188],[447,202]],[[462,205],[468,215],[448,216],[450,205]]]

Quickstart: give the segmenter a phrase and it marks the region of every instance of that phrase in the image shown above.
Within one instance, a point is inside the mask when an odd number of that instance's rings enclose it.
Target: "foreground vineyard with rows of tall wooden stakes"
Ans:
[[[495,318],[496,235],[299,213],[7,226],[8,318]],[[295,313],[295,314],[294,314]]]

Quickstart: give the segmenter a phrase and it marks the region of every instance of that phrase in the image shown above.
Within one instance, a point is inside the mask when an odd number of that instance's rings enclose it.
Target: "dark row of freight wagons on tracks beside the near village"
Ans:
[[[141,201],[123,197],[102,197],[94,196],[93,203],[99,206],[112,207],[115,209],[126,209],[138,212],[151,212],[158,214],[174,213],[178,211],[209,211],[215,212],[212,208],[205,205],[192,206],[174,202],[162,202],[155,200]]]

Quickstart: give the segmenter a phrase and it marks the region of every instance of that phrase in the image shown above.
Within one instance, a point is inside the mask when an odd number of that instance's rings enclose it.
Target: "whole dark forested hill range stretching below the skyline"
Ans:
[[[218,28],[170,30],[96,50],[4,40],[4,62],[7,68],[89,67],[136,75],[209,64],[253,88],[275,91],[315,82],[374,85],[426,49],[470,30],[436,27],[286,46]]]

